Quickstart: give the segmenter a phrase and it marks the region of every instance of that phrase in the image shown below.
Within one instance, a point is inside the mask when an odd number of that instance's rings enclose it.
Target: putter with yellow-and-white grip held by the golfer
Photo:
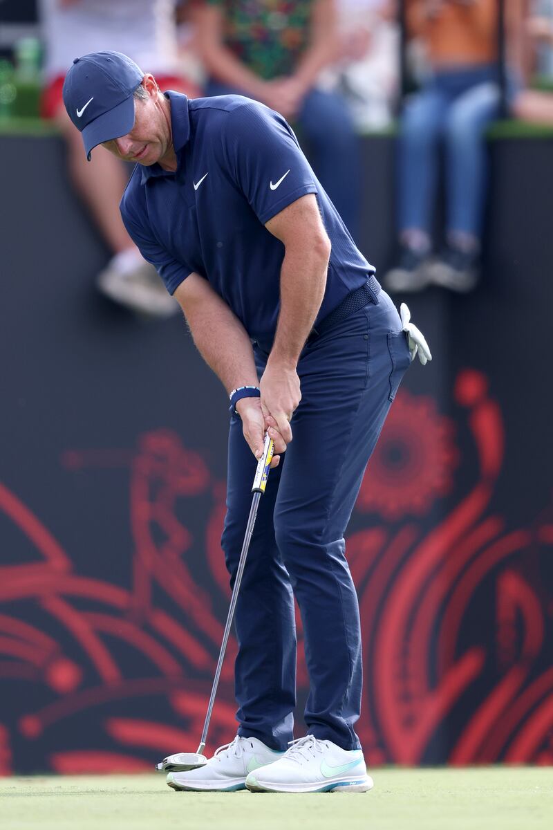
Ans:
[[[269,476],[269,466],[273,458],[273,453],[274,443],[268,435],[265,435],[263,455],[260,457],[260,460],[257,463],[254,483],[251,488],[254,497],[251,500],[250,516],[248,517],[248,524],[245,528],[244,544],[242,545],[240,559],[238,560],[238,569],[236,571],[235,584],[234,588],[232,588],[232,594],[230,595],[229,613],[226,615],[226,625],[225,631],[223,632],[223,642],[221,643],[221,651],[219,652],[219,659],[217,661],[215,677],[213,678],[213,686],[211,686],[211,696],[209,698],[209,703],[207,705],[206,720],[203,726],[203,731],[201,733],[200,745],[198,746],[196,752],[177,752],[177,754],[175,755],[167,755],[167,758],[164,758],[163,761],[160,761],[159,764],[156,764],[156,769],[158,770],[158,772],[187,772],[190,769],[198,769],[199,767],[203,767],[205,764],[207,764],[206,756],[203,754],[203,750],[206,749],[207,730],[209,729],[211,712],[213,710],[213,704],[215,703],[217,686],[219,686],[219,678],[221,676],[221,668],[223,666],[223,660],[225,659],[226,643],[229,639],[230,626],[232,625],[232,620],[235,616],[236,601],[238,599],[238,592],[240,590],[242,574],[244,573],[245,559],[248,555],[248,549],[250,548],[251,535],[254,532],[257,508],[260,504],[261,494],[264,493],[265,486],[267,485],[267,477]]]

